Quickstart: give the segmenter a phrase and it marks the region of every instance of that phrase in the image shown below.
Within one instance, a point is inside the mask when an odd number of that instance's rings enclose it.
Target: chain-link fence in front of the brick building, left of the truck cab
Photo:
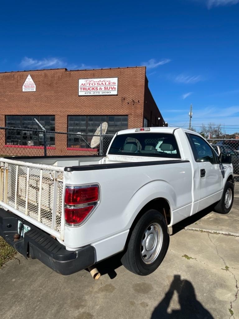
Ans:
[[[0,127],[0,155],[105,155],[113,135]]]

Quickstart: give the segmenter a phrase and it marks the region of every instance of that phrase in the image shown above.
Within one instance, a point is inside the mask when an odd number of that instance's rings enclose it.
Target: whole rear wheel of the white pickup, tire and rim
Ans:
[[[168,245],[166,221],[159,211],[150,209],[135,225],[121,262],[135,274],[149,275],[162,263]]]

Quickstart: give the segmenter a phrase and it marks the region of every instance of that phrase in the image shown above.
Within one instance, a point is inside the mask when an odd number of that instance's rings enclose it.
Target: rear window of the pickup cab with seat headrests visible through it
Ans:
[[[117,135],[110,147],[109,154],[180,158],[177,142],[168,133],[131,133]]]

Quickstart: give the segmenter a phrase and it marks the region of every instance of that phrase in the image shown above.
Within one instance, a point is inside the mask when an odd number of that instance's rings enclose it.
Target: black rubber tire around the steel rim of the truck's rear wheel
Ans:
[[[153,229],[153,227],[151,227],[152,225],[156,225],[156,228]],[[158,225],[159,231],[157,231]],[[160,234],[158,237],[160,238],[158,241],[160,244],[157,245],[157,247],[160,248],[158,248],[158,252],[156,251],[155,254],[152,254],[152,262],[146,263],[143,259],[144,257],[141,256],[141,249],[143,249],[141,244],[145,232],[150,232],[150,229],[153,229],[154,233]],[[138,220],[129,236],[127,248],[121,258],[122,264],[134,274],[140,276],[151,274],[162,263],[169,246],[168,227],[163,215],[155,209],[146,211]],[[149,234],[149,236],[151,236],[151,234]],[[149,236],[147,238],[149,238]],[[156,247],[156,245],[154,247]],[[156,259],[154,260],[154,258]]]

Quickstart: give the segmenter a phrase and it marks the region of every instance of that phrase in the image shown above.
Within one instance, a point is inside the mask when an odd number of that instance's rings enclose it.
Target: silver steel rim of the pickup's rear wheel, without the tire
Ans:
[[[163,246],[163,229],[158,223],[151,223],[141,239],[141,258],[144,263],[153,263]]]

